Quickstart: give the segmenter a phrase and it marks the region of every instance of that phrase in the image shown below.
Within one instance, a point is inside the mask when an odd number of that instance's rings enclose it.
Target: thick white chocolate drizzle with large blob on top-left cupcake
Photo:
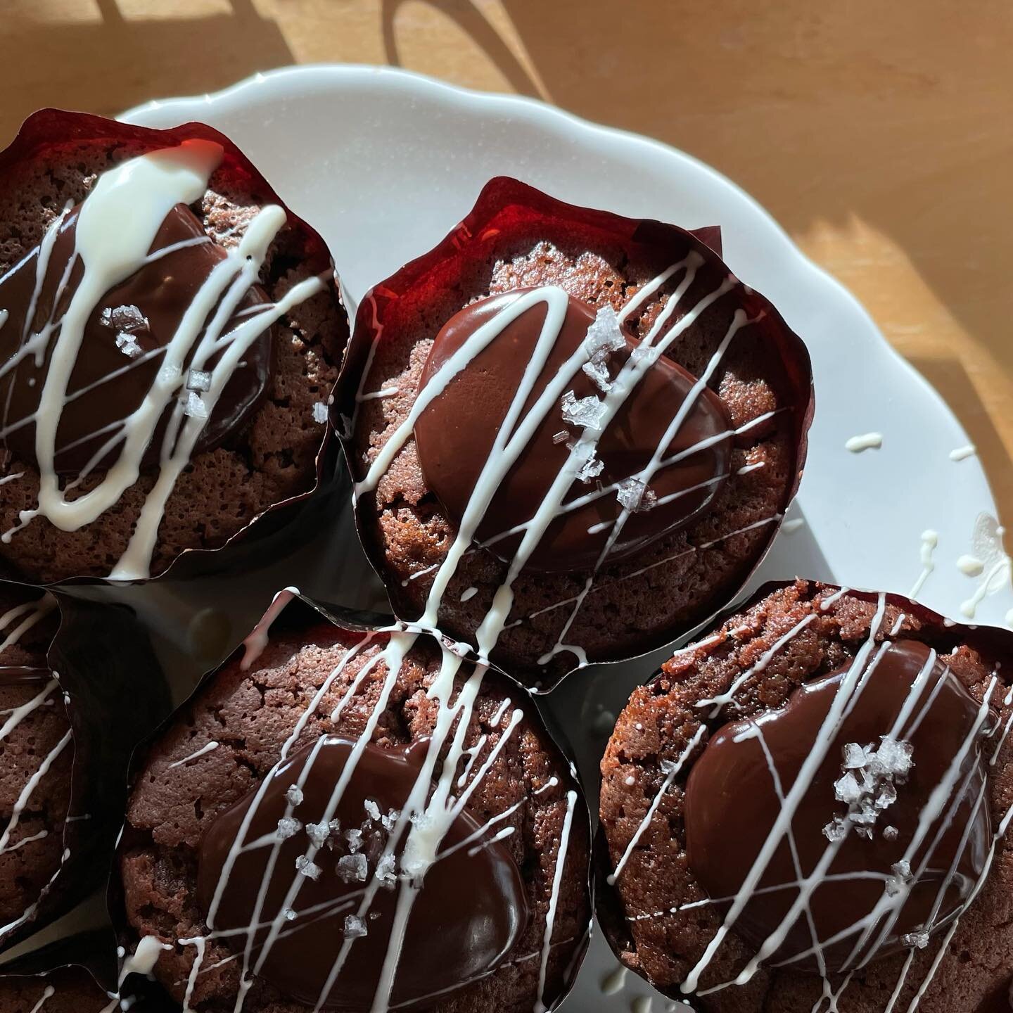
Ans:
[[[294,306],[323,290],[324,281],[320,278],[306,279],[293,286],[277,303],[245,315],[240,323],[225,331],[244,295],[257,282],[268,247],[286,222],[282,208],[277,205],[263,207],[248,224],[238,244],[226,249],[225,259],[201,286],[171,340],[150,354],[160,355],[162,365],[142,403],[118,424],[84,438],[109,433],[79,476],[61,487],[55,467],[57,431],[64,406],[85,393],[80,390],[68,394],[71,375],[84,350],[85,324],[107,292],[157,258],[149,255],[149,250],[165,217],[177,204],[191,205],[202,199],[221,158],[220,145],[189,140],[174,148],[130,159],[102,173],[81,205],[74,255],[58,288],[55,304],[59,303],[70,268],[77,261],[83,268],[80,282],[63,317],[59,321],[51,320],[37,333],[29,334],[53,246],[69,208],[47,230],[38,250],[35,287],[25,316],[22,343],[6,363],[0,365],[0,376],[29,355],[34,357],[36,365],[41,365],[52,342],[38,408],[30,419],[21,420],[21,424],[28,420],[35,423],[38,498],[34,509],[22,511],[19,523],[0,536],[4,542],[9,543],[35,518],[44,518],[62,531],[77,531],[114,508],[126,490],[140,478],[142,457],[155,437],[160,419],[169,411],[157,478],[145,497],[130,542],[109,573],[110,578],[118,580],[149,576],[158,528],[168,498],[189,463],[226,384],[246,352],[267,327]],[[186,245],[190,244],[187,240]],[[158,255],[165,252],[168,250],[160,250]],[[59,333],[54,339],[58,326]],[[218,362],[211,367],[210,361],[215,356],[219,357]],[[119,372],[131,369],[145,358],[130,359]],[[192,370],[207,372],[210,376],[208,389],[200,395],[191,392],[188,395],[185,389],[186,377]],[[186,399],[191,400],[193,396],[201,401],[200,411],[187,409]],[[0,438],[7,432],[0,427]],[[69,498],[68,492],[76,490],[98,463],[118,448],[119,456],[105,470],[101,481],[89,491]]]

